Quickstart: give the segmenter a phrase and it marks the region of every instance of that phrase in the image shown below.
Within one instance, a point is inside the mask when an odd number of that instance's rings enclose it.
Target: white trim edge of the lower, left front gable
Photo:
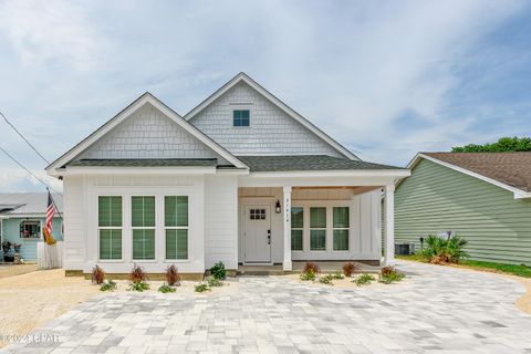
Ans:
[[[135,113],[138,108],[144,106],[146,103],[149,103],[153,106],[155,106],[163,114],[165,114],[176,124],[178,124],[183,129],[190,133],[192,136],[198,138],[201,143],[207,145],[214,152],[218,153],[221,157],[227,159],[230,164],[232,164],[237,168],[248,168],[242,162],[240,162],[236,156],[230,154],[221,145],[214,142],[210,137],[208,137],[198,128],[196,128],[194,125],[188,123],[179,114],[177,114],[175,111],[169,108],[167,105],[165,105],[162,101],[159,101],[157,97],[152,95],[149,92],[146,92],[142,96],[136,98],[133,103],[131,103],[127,107],[125,107],[123,111],[121,111],[118,114],[116,114],[113,118],[107,121],[104,125],[97,128],[94,133],[92,133],[86,138],[84,138],[81,143],[75,145],[73,148],[67,150],[64,155],[62,155],[58,159],[55,159],[52,164],[50,164],[46,167],[46,170],[50,174],[54,174],[54,173],[60,174],[59,171],[56,171],[59,168],[64,167],[67,163],[70,163],[72,159],[74,159],[76,156],[83,153],[86,148],[92,146],[100,138],[105,136],[108,132],[111,132],[119,123],[124,122],[127,117],[129,117],[133,113]]]

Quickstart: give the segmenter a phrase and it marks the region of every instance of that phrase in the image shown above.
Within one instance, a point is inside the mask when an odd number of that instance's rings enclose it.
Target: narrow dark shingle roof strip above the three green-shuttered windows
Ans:
[[[160,158],[160,159],[80,159],[67,166],[83,167],[208,167],[216,166],[217,158]]]

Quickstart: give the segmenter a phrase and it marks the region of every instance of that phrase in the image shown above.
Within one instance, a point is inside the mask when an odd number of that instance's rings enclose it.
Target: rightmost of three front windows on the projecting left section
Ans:
[[[164,197],[166,259],[188,259],[188,197]]]

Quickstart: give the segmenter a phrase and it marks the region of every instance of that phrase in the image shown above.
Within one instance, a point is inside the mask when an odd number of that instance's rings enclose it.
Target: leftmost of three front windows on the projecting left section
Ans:
[[[122,197],[97,199],[100,259],[122,259]]]

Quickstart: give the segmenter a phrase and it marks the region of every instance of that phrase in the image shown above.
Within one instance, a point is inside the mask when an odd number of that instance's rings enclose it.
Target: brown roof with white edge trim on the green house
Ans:
[[[421,158],[510,190],[514,198],[531,198],[531,152],[418,153],[407,167]]]

